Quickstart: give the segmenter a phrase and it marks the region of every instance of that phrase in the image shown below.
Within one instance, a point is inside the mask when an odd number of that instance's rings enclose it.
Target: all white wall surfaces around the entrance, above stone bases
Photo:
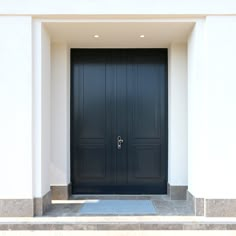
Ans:
[[[140,21],[152,14],[159,19],[188,16],[196,21],[188,40],[187,82],[182,79],[184,48],[170,47],[169,182],[188,183],[189,191],[200,198],[236,198],[235,12],[235,0],[0,0],[1,15],[42,14],[43,18],[49,14],[58,22],[68,16],[72,22],[70,14],[105,16],[107,21],[109,17],[138,19],[138,14]],[[212,14],[221,16],[207,16]],[[53,46],[51,86],[50,37],[35,22],[32,25],[31,16],[0,17],[1,199],[41,197],[49,191],[50,182],[64,185],[70,180],[68,50],[66,44]]]

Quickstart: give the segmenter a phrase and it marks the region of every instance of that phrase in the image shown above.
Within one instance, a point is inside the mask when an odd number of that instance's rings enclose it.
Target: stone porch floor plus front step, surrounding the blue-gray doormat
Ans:
[[[117,199],[111,196],[99,196],[99,199]],[[189,230],[214,230],[214,235],[221,232],[231,231],[235,233],[236,217],[198,217],[193,215],[191,204],[188,201],[173,201],[167,196],[139,196],[136,199],[149,199],[156,207],[156,215],[147,216],[81,216],[80,208],[86,201],[97,201],[96,197],[74,196],[68,201],[54,201],[52,207],[43,217],[0,217],[0,231],[85,231],[93,230],[99,235],[117,235],[127,231],[127,235],[151,235],[151,231],[163,230],[181,231],[171,235],[190,235]],[[122,196],[119,199],[134,199],[134,196]],[[105,231],[106,234],[104,234]],[[154,231],[153,231],[154,230]],[[185,231],[184,232],[182,231]],[[132,233],[133,231],[133,233]],[[91,231],[90,231],[91,232]],[[84,235],[85,235],[84,234]],[[156,235],[156,233],[155,233]],[[160,234],[158,234],[160,235]],[[204,234],[209,235],[209,234]],[[229,235],[229,234],[221,234]],[[236,235],[236,234],[230,234]]]

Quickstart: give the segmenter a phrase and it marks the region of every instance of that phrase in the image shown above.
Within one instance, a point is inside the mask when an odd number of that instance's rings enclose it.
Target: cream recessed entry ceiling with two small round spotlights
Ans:
[[[187,42],[194,22],[48,22],[52,42],[78,48],[163,48]],[[98,35],[99,37],[94,37]],[[144,37],[140,37],[144,35]]]

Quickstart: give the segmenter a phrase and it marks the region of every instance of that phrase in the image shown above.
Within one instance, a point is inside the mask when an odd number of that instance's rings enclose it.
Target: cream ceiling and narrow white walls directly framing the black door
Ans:
[[[107,19],[100,22],[69,20],[45,23],[52,42],[50,173],[52,195],[55,199],[69,196],[70,48],[168,48],[168,193],[172,199],[186,199],[187,39],[195,23],[183,19],[126,21]]]

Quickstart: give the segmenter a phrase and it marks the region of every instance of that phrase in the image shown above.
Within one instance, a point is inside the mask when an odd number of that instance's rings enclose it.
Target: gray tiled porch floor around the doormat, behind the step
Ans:
[[[152,201],[158,216],[193,216],[193,209],[189,201],[170,200],[166,195],[159,196],[99,196],[99,199],[149,199]],[[68,201],[53,201],[51,208],[44,217],[73,217],[80,216],[80,209],[85,202],[99,200],[92,196],[73,196]],[[131,213],[132,215],[132,213]],[[135,214],[134,214],[135,215]]]

